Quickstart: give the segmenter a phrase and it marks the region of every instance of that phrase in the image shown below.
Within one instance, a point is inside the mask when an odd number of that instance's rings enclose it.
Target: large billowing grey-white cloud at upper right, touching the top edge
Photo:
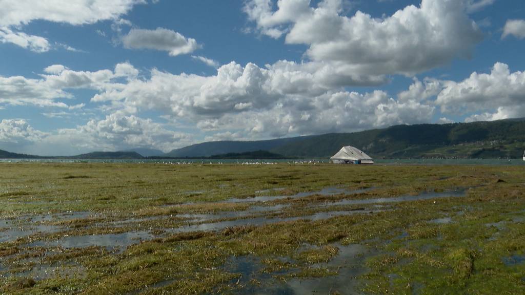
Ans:
[[[250,0],[245,12],[262,34],[286,35],[288,44],[309,46],[314,61],[334,62],[360,75],[412,75],[468,58],[482,33],[467,15],[468,3],[422,0],[391,16],[341,15],[341,0]]]

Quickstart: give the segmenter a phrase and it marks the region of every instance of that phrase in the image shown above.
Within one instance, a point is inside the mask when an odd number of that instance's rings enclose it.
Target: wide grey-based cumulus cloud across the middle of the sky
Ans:
[[[218,68],[215,76],[173,75],[153,69],[150,79],[107,87],[92,100],[162,110],[198,120],[269,109],[286,97],[316,97],[349,84],[370,86],[383,81],[381,77],[354,76],[321,63],[279,61],[261,68],[251,63],[243,67],[230,62]]]

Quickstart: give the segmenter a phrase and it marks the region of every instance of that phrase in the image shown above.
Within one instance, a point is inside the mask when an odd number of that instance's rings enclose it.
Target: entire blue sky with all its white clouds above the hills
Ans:
[[[525,117],[525,5],[503,0],[0,0],[0,149]]]

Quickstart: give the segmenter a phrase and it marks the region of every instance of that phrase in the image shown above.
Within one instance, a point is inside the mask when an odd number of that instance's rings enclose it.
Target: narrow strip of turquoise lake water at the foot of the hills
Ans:
[[[376,165],[524,165],[522,159],[379,159]],[[313,160],[197,160],[197,159],[167,159],[167,160],[122,160],[122,159],[0,159],[0,163],[162,163],[162,164],[260,164],[260,163],[330,163],[328,159]]]

